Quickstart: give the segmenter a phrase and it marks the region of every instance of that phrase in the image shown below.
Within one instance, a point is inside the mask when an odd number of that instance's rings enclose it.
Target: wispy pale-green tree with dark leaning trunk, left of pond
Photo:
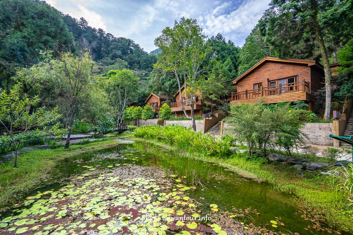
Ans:
[[[78,56],[71,52],[62,54],[60,59],[50,59],[49,56],[44,62],[23,71],[18,76],[31,84],[35,91],[41,93],[49,88],[55,103],[64,106],[68,117],[65,148],[68,148],[74,116],[87,103],[87,95],[96,83],[98,70],[88,49],[83,48]],[[21,74],[25,76],[21,77]]]

